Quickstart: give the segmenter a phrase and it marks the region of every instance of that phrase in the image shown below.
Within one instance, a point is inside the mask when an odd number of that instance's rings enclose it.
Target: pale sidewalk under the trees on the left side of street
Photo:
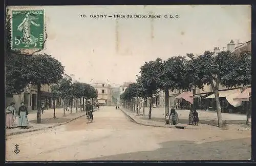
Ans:
[[[63,116],[63,108],[57,108],[55,109],[55,112],[56,112],[56,118],[53,118],[53,109],[45,110],[44,114],[41,114],[41,123],[38,124],[36,123],[36,111],[29,111],[29,115],[28,115],[29,128],[28,129],[21,129],[21,128],[6,129],[6,136],[56,127],[62,124],[69,123],[85,115],[85,113],[81,112],[79,109],[78,109],[78,113],[76,113],[76,108],[72,108],[72,114],[70,114],[70,111],[69,112],[66,111],[65,117]]]

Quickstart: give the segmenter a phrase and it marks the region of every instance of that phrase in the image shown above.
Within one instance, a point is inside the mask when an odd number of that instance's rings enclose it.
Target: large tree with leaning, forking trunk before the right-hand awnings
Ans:
[[[198,78],[194,79],[194,84],[196,86],[210,85],[214,91],[218,126],[222,127],[219,86],[236,87],[250,84],[250,53],[243,52],[238,56],[230,51],[217,54],[205,51],[201,56],[195,57],[193,54],[188,54],[188,57],[190,58],[188,73],[194,73]]]

